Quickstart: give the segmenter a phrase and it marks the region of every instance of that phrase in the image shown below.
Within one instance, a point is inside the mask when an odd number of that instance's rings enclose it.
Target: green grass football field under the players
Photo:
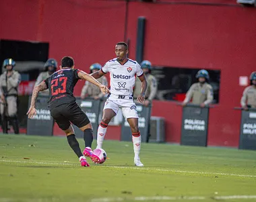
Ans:
[[[132,143],[103,146],[83,168],[63,137],[0,135],[0,201],[256,201],[256,151],[143,143],[137,168]]]

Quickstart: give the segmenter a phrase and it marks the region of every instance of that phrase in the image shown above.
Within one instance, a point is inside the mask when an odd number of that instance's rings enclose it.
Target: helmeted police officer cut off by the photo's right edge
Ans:
[[[241,98],[241,106],[248,110],[248,108],[256,108],[256,71],[250,75],[251,86],[245,88]]]

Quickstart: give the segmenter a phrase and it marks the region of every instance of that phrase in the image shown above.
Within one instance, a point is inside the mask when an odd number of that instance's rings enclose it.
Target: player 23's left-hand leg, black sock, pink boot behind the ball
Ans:
[[[51,110],[51,116],[53,116],[53,119],[55,120],[59,128],[62,129],[67,135],[67,142],[69,143],[69,146],[71,147],[71,149],[73,149],[73,151],[79,158],[79,162],[81,162],[81,166],[88,167],[90,165],[88,164],[88,162],[86,162],[86,158],[82,154],[82,151],[79,147],[79,143],[75,138],[73,127],[71,126],[70,122],[65,118],[65,116],[61,114],[61,111],[64,110],[65,106],[66,105],[64,104],[57,108],[53,108]]]

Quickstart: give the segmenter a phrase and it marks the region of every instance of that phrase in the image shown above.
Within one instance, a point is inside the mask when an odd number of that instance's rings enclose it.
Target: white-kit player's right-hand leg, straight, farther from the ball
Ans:
[[[131,135],[133,139],[133,151],[134,151],[134,164],[135,166],[143,166],[140,161],[139,153],[141,149],[141,136],[139,133],[139,116],[137,114],[135,103],[132,101],[123,102],[122,104],[123,116],[127,119],[131,127]]]

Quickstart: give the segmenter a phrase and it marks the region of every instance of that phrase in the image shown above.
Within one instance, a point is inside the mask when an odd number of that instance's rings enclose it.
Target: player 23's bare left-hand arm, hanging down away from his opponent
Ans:
[[[35,108],[36,98],[40,91],[48,89],[48,86],[46,83],[48,83],[48,79],[46,79],[46,81],[42,81],[38,86],[34,87],[32,92],[31,102],[30,102],[30,108],[27,112],[28,118],[32,118],[36,114],[36,108]]]

